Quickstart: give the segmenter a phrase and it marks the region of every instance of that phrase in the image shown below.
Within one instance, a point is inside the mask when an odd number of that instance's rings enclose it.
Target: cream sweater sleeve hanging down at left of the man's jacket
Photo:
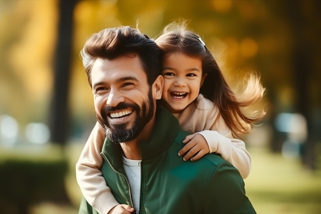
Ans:
[[[76,180],[83,196],[101,214],[107,214],[119,204],[106,185],[100,170],[103,164],[100,153],[104,139],[103,127],[96,123],[76,163]]]

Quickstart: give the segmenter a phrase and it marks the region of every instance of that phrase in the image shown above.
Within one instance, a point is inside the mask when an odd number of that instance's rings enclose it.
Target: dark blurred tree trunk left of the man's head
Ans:
[[[50,115],[51,141],[64,145],[69,133],[68,91],[71,72],[73,11],[78,1],[59,1],[58,38]]]

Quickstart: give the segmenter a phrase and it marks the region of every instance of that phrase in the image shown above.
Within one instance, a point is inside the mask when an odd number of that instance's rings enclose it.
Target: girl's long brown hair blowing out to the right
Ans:
[[[199,35],[187,29],[186,21],[173,22],[166,26],[155,42],[164,55],[181,52],[202,59],[203,75],[207,74],[207,76],[200,88],[200,93],[217,106],[235,136],[239,137],[241,134],[249,133],[251,127],[263,118],[264,109],[254,110],[250,115],[246,115],[241,110],[262,100],[265,88],[260,83],[260,76],[249,73],[236,97],[224,79],[213,55]]]

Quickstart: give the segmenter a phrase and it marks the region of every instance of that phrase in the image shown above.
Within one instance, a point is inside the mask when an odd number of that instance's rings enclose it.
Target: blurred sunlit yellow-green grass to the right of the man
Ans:
[[[246,191],[259,214],[321,213],[321,173],[266,149],[249,149],[252,171]]]

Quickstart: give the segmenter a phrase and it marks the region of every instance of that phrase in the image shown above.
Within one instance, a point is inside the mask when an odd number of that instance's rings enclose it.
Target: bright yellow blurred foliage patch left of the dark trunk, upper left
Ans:
[[[52,87],[52,52],[55,47],[57,14],[56,2],[20,2],[29,9],[30,21],[24,27],[24,36],[10,51],[10,63],[16,75],[25,84],[31,99],[41,99]],[[49,51],[48,51],[49,50]]]

